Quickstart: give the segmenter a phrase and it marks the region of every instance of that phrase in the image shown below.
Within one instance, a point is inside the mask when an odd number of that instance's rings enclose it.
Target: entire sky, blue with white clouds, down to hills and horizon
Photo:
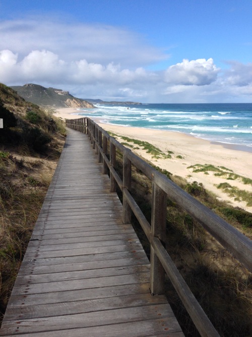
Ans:
[[[0,0],[0,81],[80,98],[252,102],[251,0]]]

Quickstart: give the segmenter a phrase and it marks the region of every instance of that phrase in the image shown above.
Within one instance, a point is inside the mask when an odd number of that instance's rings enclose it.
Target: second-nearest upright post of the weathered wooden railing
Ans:
[[[131,207],[126,201],[123,190],[124,188],[131,191],[131,161],[127,157],[127,152],[123,154],[123,178],[122,178],[122,222],[123,224],[131,223]]]

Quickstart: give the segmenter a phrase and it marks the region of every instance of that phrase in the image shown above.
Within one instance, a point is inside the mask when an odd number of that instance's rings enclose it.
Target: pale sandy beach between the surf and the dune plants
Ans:
[[[82,111],[83,112],[83,111]],[[58,109],[55,113],[56,117],[62,119],[80,118],[78,110],[73,108]],[[181,176],[188,182],[198,181],[222,200],[230,202],[233,206],[238,206],[246,211],[252,212],[252,207],[247,207],[245,202],[235,201],[230,198],[216,185],[222,182],[228,182],[231,186],[236,186],[241,190],[252,192],[250,184],[244,184],[241,179],[227,180],[225,177],[215,176],[214,173],[193,172],[193,168],[188,168],[196,164],[211,164],[215,167],[225,167],[232,170],[233,173],[242,177],[252,178],[252,153],[230,144],[225,145],[208,140],[200,139],[179,132],[159,131],[136,127],[123,127],[110,124],[102,124],[99,120],[95,120],[102,128],[111,131],[117,135],[128,136],[130,138],[148,141],[162,152],[173,152],[170,159],[155,159],[147,154],[144,150],[135,150],[138,155],[148,159],[154,165],[159,166],[173,175]],[[120,138],[118,138],[120,141]]]

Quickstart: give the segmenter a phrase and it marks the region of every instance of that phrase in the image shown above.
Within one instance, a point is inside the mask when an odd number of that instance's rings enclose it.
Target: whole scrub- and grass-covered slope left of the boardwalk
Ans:
[[[65,142],[65,127],[0,83],[0,325]]]

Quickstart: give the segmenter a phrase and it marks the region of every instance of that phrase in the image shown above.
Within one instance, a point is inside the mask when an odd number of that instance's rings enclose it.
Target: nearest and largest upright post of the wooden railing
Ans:
[[[157,184],[152,184],[151,234],[165,245],[167,195]],[[164,293],[165,270],[151,247],[151,294]]]

